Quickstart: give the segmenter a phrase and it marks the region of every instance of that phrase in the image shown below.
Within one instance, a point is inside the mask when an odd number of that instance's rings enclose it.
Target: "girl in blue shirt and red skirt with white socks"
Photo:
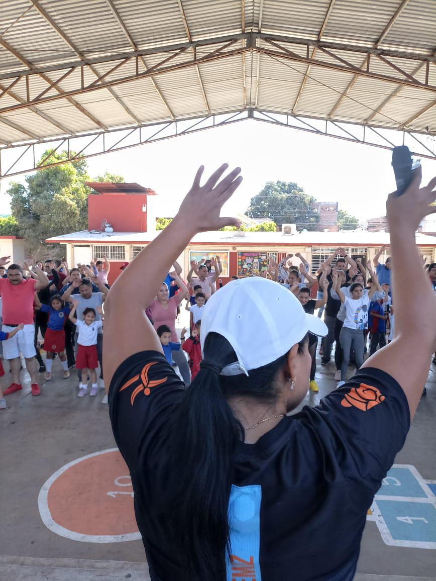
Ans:
[[[41,311],[48,313],[48,325],[44,337],[44,349],[46,350],[45,360],[45,381],[52,379],[53,353],[59,354],[64,369],[64,379],[69,378],[67,357],[65,355],[65,331],[64,325],[70,314],[70,307],[66,307],[60,295],[54,295],[50,299],[50,304],[41,304]]]

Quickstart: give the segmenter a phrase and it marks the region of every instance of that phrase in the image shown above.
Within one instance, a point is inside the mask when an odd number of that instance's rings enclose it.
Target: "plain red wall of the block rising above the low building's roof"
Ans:
[[[88,228],[99,230],[107,220],[116,232],[146,232],[147,205],[144,194],[91,194],[88,196]]]

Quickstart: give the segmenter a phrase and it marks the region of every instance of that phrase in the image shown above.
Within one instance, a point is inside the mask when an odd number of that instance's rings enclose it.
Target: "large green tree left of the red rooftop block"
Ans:
[[[42,169],[26,177],[27,185],[12,182],[8,191],[18,234],[26,239],[27,252],[42,255],[45,239],[88,227],[89,181],[86,160],[60,166],[44,165],[68,159],[68,153],[48,150],[39,163]],[[74,156],[74,152],[70,152]],[[53,247],[51,246],[51,253]]]

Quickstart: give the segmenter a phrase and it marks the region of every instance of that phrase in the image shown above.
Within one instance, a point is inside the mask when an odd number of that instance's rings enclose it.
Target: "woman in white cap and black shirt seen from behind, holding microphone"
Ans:
[[[367,510],[405,442],[435,349],[435,298],[414,234],[436,198],[436,179],[421,189],[415,179],[388,200],[395,339],[318,406],[288,416],[308,390],[307,333],[327,331],[289,290],[247,277],[215,293],[188,388],[145,314],[197,232],[239,224],[219,215],[241,181],[239,168],[223,178],[226,167],[204,185],[200,167],[175,218],[107,297],[109,413],[150,579],[224,581],[243,567],[264,581],[289,579],[290,571],[306,581],[351,581]],[[406,274],[421,282],[419,304],[415,285],[402,283]]]

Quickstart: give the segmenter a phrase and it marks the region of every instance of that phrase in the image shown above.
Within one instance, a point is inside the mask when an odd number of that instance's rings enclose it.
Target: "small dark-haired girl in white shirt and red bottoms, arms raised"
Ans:
[[[103,327],[102,321],[96,321],[96,312],[103,314],[102,307],[87,307],[83,311],[84,320],[77,319],[75,311],[78,307],[78,300],[73,301],[73,309],[70,311],[69,319],[76,326],[77,337],[77,357],[75,359],[75,367],[81,370],[81,383],[79,385],[78,397],[84,397],[88,393],[88,374],[91,377],[91,392],[90,396],[96,396],[98,393],[97,372],[98,357],[97,357],[97,334],[99,329]]]

